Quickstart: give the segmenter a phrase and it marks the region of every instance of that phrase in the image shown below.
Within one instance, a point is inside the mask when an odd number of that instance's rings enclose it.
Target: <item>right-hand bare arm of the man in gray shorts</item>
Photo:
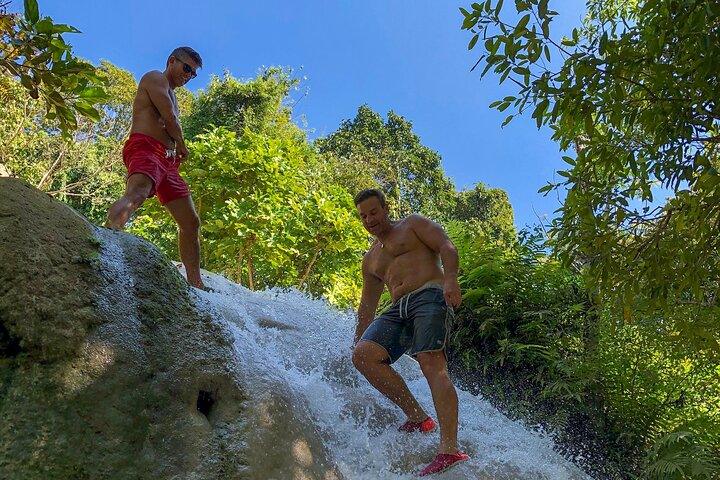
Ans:
[[[445,284],[443,285],[445,301],[448,305],[459,307],[462,296],[457,281],[458,254],[455,245],[437,223],[421,215],[412,215],[409,220],[410,226],[420,241],[440,255],[445,273]]]

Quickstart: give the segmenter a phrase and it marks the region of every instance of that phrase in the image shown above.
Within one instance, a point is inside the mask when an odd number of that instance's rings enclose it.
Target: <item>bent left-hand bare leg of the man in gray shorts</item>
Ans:
[[[384,348],[360,340],[353,351],[353,364],[380,393],[400,407],[412,422],[422,422],[427,414],[407,388],[405,380],[389,365]]]

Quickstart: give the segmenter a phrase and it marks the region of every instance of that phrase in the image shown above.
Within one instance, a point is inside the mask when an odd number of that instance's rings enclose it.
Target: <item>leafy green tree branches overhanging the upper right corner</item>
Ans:
[[[557,252],[626,304],[694,302],[718,318],[720,5],[588,1],[584,25],[557,40],[548,0],[516,2],[515,22],[502,3],[463,9],[463,28],[483,74],[517,86],[492,107],[532,110],[574,150],[564,180],[541,190],[567,190]]]

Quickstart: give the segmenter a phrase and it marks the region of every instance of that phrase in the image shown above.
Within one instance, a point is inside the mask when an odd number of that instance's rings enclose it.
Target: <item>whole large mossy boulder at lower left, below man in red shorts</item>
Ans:
[[[154,246],[0,178],[0,257],[0,478],[247,478],[232,336]]]

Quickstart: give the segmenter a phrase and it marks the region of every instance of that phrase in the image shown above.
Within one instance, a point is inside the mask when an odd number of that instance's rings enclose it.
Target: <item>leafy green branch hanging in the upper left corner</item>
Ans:
[[[99,120],[94,105],[107,99],[104,79],[63,39],[64,33],[79,30],[40,17],[37,0],[25,0],[24,6],[23,16],[0,6],[0,74],[18,79],[64,133],[77,128],[78,114]]]

